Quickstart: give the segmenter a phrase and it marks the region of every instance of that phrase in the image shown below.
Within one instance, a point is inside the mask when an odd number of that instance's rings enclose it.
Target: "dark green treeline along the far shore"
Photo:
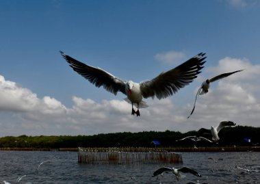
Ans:
[[[192,142],[183,137],[196,135],[196,131],[143,131],[139,133],[101,133],[99,135],[60,136],[7,136],[0,138],[0,148],[77,148],[77,147],[154,147],[153,140],[161,144],[157,147],[212,146],[209,142]],[[218,146],[260,146],[260,127],[226,127],[219,133]],[[205,136],[211,140],[211,136]],[[248,142],[246,139],[250,139]]]

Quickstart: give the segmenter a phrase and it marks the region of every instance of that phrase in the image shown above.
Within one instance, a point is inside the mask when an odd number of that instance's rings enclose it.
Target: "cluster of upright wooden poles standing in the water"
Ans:
[[[158,164],[183,163],[181,154],[157,148],[79,148],[79,163]]]

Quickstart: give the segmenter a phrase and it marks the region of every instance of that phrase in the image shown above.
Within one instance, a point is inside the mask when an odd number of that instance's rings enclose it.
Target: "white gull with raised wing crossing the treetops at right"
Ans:
[[[211,134],[212,140],[218,142],[218,140],[220,140],[220,137],[218,137],[218,133],[220,132],[220,130],[223,129],[224,127],[229,127],[229,126],[235,126],[235,122],[222,121],[220,122],[220,124],[218,124],[217,127],[212,126],[211,129],[205,129],[205,128],[199,129],[198,134],[199,135]]]

